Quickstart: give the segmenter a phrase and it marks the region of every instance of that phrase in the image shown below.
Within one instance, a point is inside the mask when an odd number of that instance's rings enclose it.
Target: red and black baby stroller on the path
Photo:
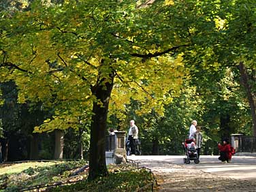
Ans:
[[[186,156],[183,158],[183,163],[189,164],[190,160],[194,160],[196,164],[199,163],[195,142],[193,140],[185,140],[182,145]]]

